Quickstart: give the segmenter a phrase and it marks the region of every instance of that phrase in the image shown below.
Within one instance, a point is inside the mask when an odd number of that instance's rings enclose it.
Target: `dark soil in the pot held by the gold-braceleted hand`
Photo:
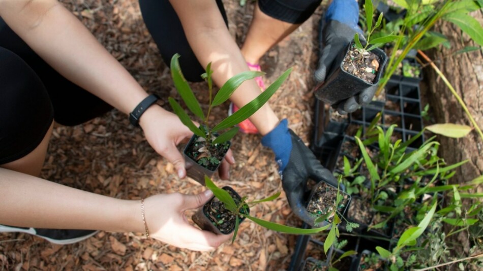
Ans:
[[[240,198],[235,195],[231,190],[225,189],[231,197],[235,200],[235,204],[239,204]],[[203,206],[203,212],[208,217],[208,219],[215,225],[223,234],[228,234],[232,232],[236,224],[236,215],[228,211],[225,208],[225,204],[221,202],[217,197],[206,202]],[[241,210],[243,213],[243,210]],[[243,216],[238,216],[240,222],[244,219]]]

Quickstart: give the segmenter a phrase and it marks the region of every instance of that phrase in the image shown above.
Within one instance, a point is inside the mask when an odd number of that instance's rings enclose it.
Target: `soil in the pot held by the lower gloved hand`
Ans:
[[[340,214],[344,213],[344,209],[346,208],[349,202],[349,195],[346,193],[340,192],[343,195],[343,199],[339,203],[337,210]],[[325,182],[320,182],[317,186],[315,192],[312,195],[312,198],[307,205],[307,211],[314,216],[321,216],[327,213],[334,211],[334,206],[337,200],[337,188],[327,185]],[[327,220],[331,222],[330,216]]]

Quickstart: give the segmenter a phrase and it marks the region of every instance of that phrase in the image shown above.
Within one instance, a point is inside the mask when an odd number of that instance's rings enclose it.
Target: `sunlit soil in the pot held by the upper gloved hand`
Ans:
[[[344,71],[373,84],[379,70],[380,59],[377,55],[366,51],[361,54],[352,44],[342,61]]]

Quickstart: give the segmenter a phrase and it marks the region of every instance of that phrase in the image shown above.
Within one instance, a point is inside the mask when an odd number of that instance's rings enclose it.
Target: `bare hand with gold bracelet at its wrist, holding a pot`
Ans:
[[[232,238],[231,234],[217,235],[200,230],[188,223],[185,211],[203,206],[211,190],[197,195],[180,193],[159,194],[144,200],[144,214],[149,235],[166,244],[196,251],[214,250]]]

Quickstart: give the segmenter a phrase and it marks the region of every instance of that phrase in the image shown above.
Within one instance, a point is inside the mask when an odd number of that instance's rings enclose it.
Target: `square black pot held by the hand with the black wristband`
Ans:
[[[215,136],[218,136],[218,134],[215,133]],[[212,177],[213,174],[218,171],[218,167],[220,167],[222,160],[230,149],[231,142],[225,142],[224,146],[226,147],[221,147],[222,149],[219,153],[220,163],[218,163],[217,165],[204,166],[202,164],[199,164],[193,155],[195,153],[193,148],[196,148],[197,144],[200,144],[199,142],[197,142],[198,138],[199,137],[196,136],[196,134],[193,134],[193,137],[191,137],[190,141],[186,145],[183,154],[185,156],[186,175],[204,186],[204,176],[206,175],[208,177]]]

